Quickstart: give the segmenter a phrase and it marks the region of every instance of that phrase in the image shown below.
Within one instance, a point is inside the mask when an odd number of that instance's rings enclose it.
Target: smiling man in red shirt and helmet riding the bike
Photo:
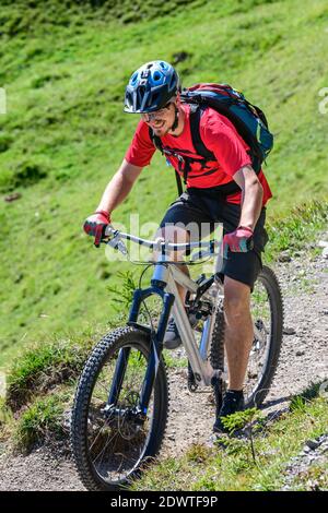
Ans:
[[[97,210],[84,223],[84,230],[95,237],[96,246],[99,244],[104,226],[110,223],[113,211],[129,194],[156,150],[150,128],[164,147],[195,154],[189,126],[190,105],[181,103],[179,95],[179,76],[165,61],[149,62],[132,73],[126,87],[125,111],[139,114],[141,119]],[[174,226],[176,223],[210,223],[211,226],[223,223],[229,387],[213,426],[214,431],[221,432],[224,431],[222,418],[244,407],[243,385],[254,341],[250,293],[261,270],[261,252],[268,240],[265,230],[266,203],[272,194],[262,170],[258,175],[254,171],[248,146],[226,117],[210,107],[206,108],[199,132],[215,160],[204,167],[199,162],[190,165],[187,190],[169,205],[159,235],[165,240],[186,242],[192,234]],[[181,174],[177,157],[169,155],[167,160]],[[229,192],[232,184],[236,190]],[[250,239],[254,247],[247,250],[246,242]],[[187,266],[181,266],[181,270],[188,274]],[[185,297],[184,289],[179,288],[179,294]],[[175,348],[179,344],[177,327],[171,319],[164,345]]]

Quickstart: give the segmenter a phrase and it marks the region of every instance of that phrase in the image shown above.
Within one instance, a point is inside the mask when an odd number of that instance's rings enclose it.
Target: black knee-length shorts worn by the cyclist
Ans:
[[[227,203],[215,189],[187,189],[169,205],[161,228],[167,224],[187,226],[191,240],[199,240],[215,229],[215,224],[223,224],[223,235],[234,231],[241,218],[241,205]],[[247,253],[229,251],[222,273],[237,282],[254,283],[262,267],[261,252],[268,241],[265,229],[266,208],[261,210],[254,230],[254,249]]]

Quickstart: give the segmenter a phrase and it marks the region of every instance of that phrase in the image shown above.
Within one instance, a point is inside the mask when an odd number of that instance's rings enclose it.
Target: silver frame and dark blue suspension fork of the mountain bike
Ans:
[[[219,269],[221,269],[220,252],[215,262],[215,272],[212,276],[215,279]],[[211,279],[211,278],[209,278]],[[216,281],[219,287],[218,299],[223,298],[223,284],[220,279]],[[140,403],[138,411],[141,416],[145,416],[150,397],[153,390],[153,384],[156,378],[157,368],[160,363],[160,356],[163,350],[163,339],[165,336],[168,319],[171,312],[176,322],[183,345],[187,353],[195,379],[199,385],[209,386],[214,377],[219,377],[218,370],[213,370],[209,361],[209,345],[212,337],[212,332],[215,323],[215,315],[212,313],[204,321],[202,336],[199,347],[195,339],[192,329],[188,314],[186,313],[185,306],[180,299],[177,286],[183,286],[187,291],[197,294],[199,284],[194,282],[185,273],[183,273],[175,263],[168,260],[166,254],[162,254],[155,264],[154,273],[151,279],[151,287],[147,289],[137,289],[133,293],[132,305],[129,313],[127,324],[147,331],[150,334],[151,354],[148,362],[147,373],[143,381]],[[157,331],[154,332],[148,326],[138,323],[138,317],[141,303],[144,299],[152,295],[157,295],[162,298],[163,309],[159,320]],[[115,406],[118,401],[121,383],[124,380],[125,371],[128,363],[130,348],[120,349],[114,380],[112,383],[108,406]]]

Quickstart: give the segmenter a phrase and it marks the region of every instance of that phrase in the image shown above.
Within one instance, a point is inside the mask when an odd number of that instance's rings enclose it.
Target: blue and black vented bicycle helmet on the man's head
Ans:
[[[159,110],[179,91],[179,76],[163,60],[148,62],[132,73],[126,87],[125,112],[145,114]]]

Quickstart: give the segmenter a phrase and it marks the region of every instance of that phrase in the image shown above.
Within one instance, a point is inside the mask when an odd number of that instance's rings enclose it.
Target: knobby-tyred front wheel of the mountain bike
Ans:
[[[147,416],[138,414],[150,348],[149,334],[120,327],[104,336],[86,361],[72,408],[71,445],[78,473],[89,490],[128,486],[140,475],[142,464],[160,451],[168,408],[162,357]],[[122,354],[125,371],[117,379]],[[108,404],[113,389],[115,405]]]

